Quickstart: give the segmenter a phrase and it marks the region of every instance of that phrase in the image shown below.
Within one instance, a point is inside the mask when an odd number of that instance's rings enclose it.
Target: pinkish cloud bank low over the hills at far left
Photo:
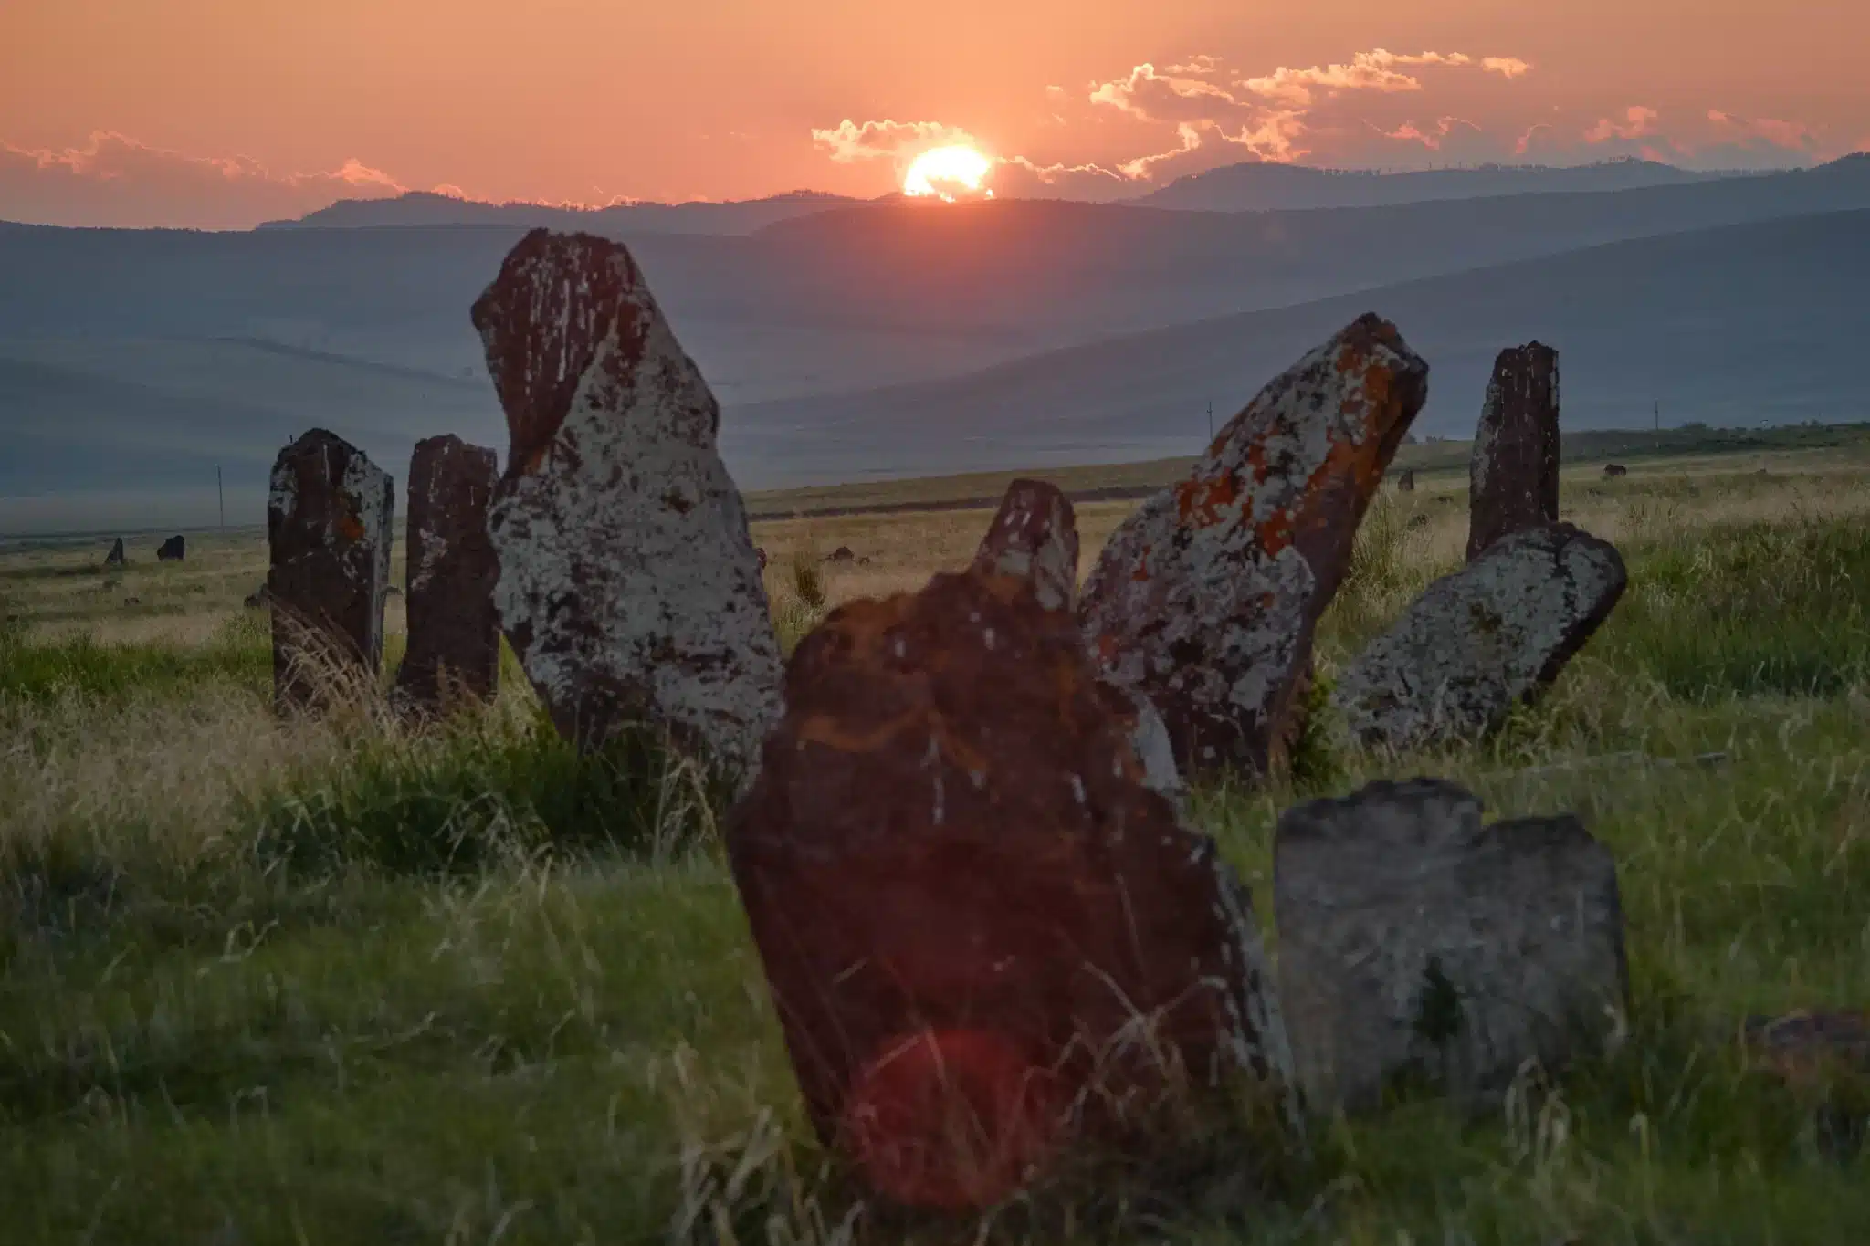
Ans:
[[[82,148],[0,142],[0,217],[36,224],[245,230],[406,189],[355,159],[331,172],[277,174],[245,155],[187,155],[116,131],[95,131]]]

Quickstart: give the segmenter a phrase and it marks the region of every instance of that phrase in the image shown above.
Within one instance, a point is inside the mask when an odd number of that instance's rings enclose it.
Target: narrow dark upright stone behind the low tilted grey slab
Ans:
[[[1468,562],[1502,536],[1558,523],[1558,351],[1500,351],[1468,461]]]

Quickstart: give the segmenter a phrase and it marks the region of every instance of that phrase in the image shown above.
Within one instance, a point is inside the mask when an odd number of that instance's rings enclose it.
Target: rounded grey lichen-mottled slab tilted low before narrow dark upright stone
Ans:
[[[1481,736],[1558,678],[1627,583],[1616,545],[1569,523],[1515,532],[1429,585],[1331,701],[1365,745]]]

